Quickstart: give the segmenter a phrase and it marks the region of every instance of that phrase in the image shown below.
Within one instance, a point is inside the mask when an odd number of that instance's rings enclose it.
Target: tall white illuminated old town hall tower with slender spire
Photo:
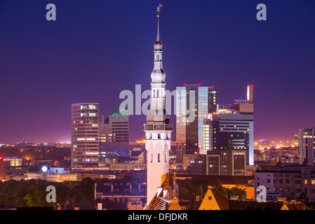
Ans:
[[[170,116],[165,106],[165,77],[162,66],[162,43],[159,37],[158,7],[157,37],[154,43],[154,69],[151,73],[151,104],[144,125],[147,150],[147,204],[151,202],[158,188],[162,186],[162,176],[168,174],[170,150],[170,133],[173,125],[169,124]]]

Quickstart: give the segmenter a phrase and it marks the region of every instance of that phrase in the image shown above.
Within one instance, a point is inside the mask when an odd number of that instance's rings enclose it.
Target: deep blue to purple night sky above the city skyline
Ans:
[[[98,102],[106,117],[122,90],[148,90],[159,3],[168,90],[214,85],[230,104],[253,83],[255,140],[315,127],[314,0],[0,0],[0,143],[70,141],[72,103]],[[130,116],[131,141],[145,120]]]

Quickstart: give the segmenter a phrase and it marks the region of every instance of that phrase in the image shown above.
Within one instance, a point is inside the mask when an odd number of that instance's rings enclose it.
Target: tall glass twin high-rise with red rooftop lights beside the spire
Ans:
[[[217,112],[217,90],[201,84],[176,88],[177,160],[184,154],[203,152],[203,119]],[[187,110],[187,111],[186,111]]]

